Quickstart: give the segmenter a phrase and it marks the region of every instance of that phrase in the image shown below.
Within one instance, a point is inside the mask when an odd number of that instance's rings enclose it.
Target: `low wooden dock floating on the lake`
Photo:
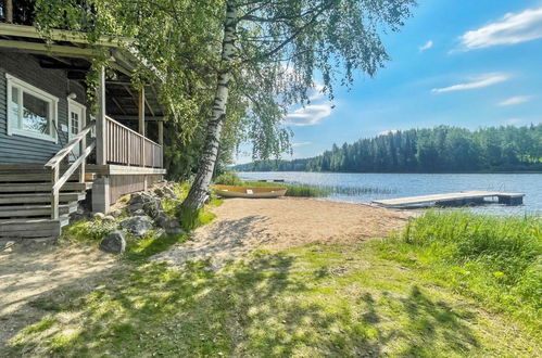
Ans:
[[[413,206],[465,206],[484,203],[499,203],[505,205],[521,205],[524,203],[522,193],[501,193],[494,191],[465,191],[459,193],[445,193],[433,195],[408,196],[398,199],[376,200],[371,204],[390,207],[406,208]],[[491,202],[486,200],[490,199]],[[495,199],[497,201],[495,201]]]

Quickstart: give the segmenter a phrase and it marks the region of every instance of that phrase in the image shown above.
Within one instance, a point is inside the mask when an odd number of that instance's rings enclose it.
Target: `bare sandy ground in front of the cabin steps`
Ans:
[[[48,314],[40,303],[50,302],[51,292],[91,291],[104,272],[118,266],[116,258],[90,247],[13,248],[0,252],[0,356],[21,329]]]

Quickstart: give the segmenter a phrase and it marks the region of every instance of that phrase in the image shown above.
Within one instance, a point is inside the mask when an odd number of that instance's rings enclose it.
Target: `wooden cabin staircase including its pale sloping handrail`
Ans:
[[[0,239],[55,239],[70,223],[77,202],[92,188],[92,174],[85,171],[87,135],[96,127],[89,123],[45,165],[0,165]],[[63,164],[78,146],[73,163]]]

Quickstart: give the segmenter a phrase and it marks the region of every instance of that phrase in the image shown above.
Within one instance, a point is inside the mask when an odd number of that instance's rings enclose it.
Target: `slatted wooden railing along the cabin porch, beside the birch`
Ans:
[[[105,133],[108,163],[151,168],[163,167],[162,145],[111,117],[105,117]]]

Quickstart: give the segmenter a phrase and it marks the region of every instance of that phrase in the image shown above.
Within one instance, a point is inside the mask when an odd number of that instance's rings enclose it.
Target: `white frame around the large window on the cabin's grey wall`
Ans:
[[[50,142],[58,143],[59,142],[59,136],[56,132],[56,129],[59,128],[59,98],[54,97],[35,86],[31,86],[30,84],[25,82],[22,79],[18,79],[10,74],[5,74],[5,79],[8,81],[8,136],[24,136],[24,137],[30,137],[35,139],[41,139]],[[42,133],[37,133],[31,130],[24,130],[22,128],[12,126],[13,122],[22,122],[22,116],[23,112],[18,111],[18,117],[13,118],[13,114],[10,111],[11,106],[11,99],[12,99],[12,88],[17,87],[20,88],[20,98],[17,99],[18,105],[24,105],[23,103],[23,91],[34,95],[45,102],[49,103],[49,117],[53,122],[53,126],[51,126],[51,133],[50,135],[42,135]]]

